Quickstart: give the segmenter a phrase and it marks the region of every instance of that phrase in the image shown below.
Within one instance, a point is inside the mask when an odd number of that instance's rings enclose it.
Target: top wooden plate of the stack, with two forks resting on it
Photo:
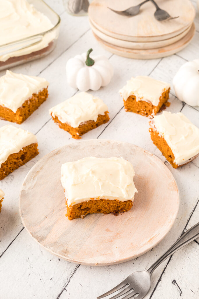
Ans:
[[[151,2],[145,3],[140,13],[133,17],[118,15],[108,8],[125,10],[139,3],[139,0],[94,0],[89,7],[89,18],[106,35],[133,42],[171,38],[187,29],[195,18],[195,9],[189,0],[157,0],[171,16],[179,16],[162,22],[155,19],[155,7]]]

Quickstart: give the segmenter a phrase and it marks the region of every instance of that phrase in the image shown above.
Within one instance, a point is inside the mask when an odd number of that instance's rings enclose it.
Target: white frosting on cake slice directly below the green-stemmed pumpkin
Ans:
[[[96,121],[98,115],[104,115],[105,111],[108,107],[101,99],[83,91],[51,108],[49,113],[57,116],[62,123],[77,128],[85,121]]]

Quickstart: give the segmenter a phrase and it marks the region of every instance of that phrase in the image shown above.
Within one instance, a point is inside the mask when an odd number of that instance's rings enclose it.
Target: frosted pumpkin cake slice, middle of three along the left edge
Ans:
[[[38,155],[37,138],[12,125],[0,128],[0,180]]]

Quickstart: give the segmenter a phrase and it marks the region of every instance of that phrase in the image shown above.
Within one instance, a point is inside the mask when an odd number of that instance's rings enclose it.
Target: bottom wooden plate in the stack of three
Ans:
[[[173,44],[167,45],[165,47],[155,49],[129,49],[118,47],[100,39],[94,32],[93,34],[97,41],[103,46],[103,48],[113,54],[134,59],[156,59],[173,55],[185,48],[194,37],[195,25],[193,23],[189,32],[177,42],[174,42]]]

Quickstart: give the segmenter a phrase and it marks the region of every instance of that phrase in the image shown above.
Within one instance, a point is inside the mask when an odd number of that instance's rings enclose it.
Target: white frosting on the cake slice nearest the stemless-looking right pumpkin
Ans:
[[[136,101],[145,101],[158,106],[161,94],[169,87],[169,83],[148,76],[137,76],[127,81],[127,84],[119,90],[119,93],[125,101],[130,95],[135,95]]]

